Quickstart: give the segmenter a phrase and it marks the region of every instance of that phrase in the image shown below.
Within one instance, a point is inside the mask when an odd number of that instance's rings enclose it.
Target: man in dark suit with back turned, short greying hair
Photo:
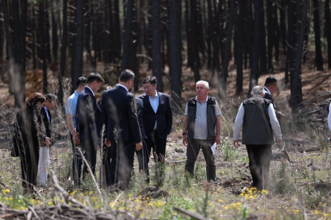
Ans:
[[[134,162],[134,149],[141,150],[141,133],[134,96],[129,92],[134,73],[126,69],[116,87],[103,93],[101,110],[106,127],[105,143],[110,147],[110,181],[127,190]]]

